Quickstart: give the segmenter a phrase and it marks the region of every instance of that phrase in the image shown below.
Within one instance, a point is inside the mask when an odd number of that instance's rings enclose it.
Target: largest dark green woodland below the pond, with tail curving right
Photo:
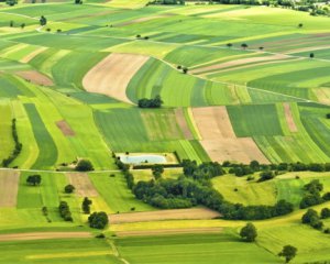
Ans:
[[[279,200],[274,206],[243,206],[224,200],[223,196],[212,188],[210,179],[222,175],[218,163],[183,161],[184,174],[177,179],[139,182],[132,189],[135,197],[154,207],[163,209],[189,208],[206,206],[222,213],[224,219],[258,220],[289,213],[294,206]]]

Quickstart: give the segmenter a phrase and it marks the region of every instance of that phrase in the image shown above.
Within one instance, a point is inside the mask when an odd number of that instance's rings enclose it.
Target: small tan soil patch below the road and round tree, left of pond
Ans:
[[[97,197],[98,191],[90,182],[86,173],[67,173],[70,184],[75,186],[76,193],[80,197]]]

